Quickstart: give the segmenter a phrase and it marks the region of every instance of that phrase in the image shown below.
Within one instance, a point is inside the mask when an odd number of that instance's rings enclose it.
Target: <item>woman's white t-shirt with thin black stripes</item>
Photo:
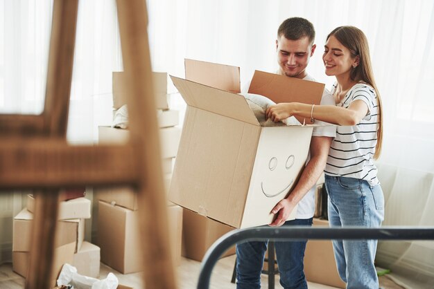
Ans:
[[[333,93],[334,91],[336,86]],[[337,106],[348,108],[355,100],[365,102],[368,107],[367,115],[352,127],[336,127],[336,138],[331,143],[324,173],[329,176],[363,179],[370,185],[377,185],[379,180],[376,178],[377,169],[373,156],[378,129],[378,106],[374,88],[367,84],[356,84]]]

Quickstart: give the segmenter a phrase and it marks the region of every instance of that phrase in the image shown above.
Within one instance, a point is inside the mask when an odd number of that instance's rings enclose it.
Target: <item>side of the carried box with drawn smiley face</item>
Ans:
[[[242,227],[271,223],[271,210],[286,198],[306,164],[312,130],[306,127],[263,127],[245,203]],[[294,214],[297,210],[293,210]],[[259,221],[261,219],[261,221]]]

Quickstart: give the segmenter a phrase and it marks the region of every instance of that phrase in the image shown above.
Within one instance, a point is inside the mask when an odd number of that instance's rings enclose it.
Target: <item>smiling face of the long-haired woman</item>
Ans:
[[[343,46],[336,37],[331,35],[324,45],[322,61],[326,75],[349,74],[354,65],[358,65],[358,57],[351,57],[348,48]]]

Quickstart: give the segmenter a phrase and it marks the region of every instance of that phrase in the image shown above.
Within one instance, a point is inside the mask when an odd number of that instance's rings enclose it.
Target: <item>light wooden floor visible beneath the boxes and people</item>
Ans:
[[[232,270],[234,270],[235,256],[229,256],[220,259],[211,274],[210,289],[235,289],[235,284],[231,283]],[[112,272],[118,277],[119,283],[125,286],[131,286],[135,289],[144,288],[141,279],[141,273],[121,274],[112,270],[101,263],[100,279],[107,277]],[[177,268],[179,289],[194,289],[197,286],[200,272],[200,262],[183,258],[181,265]],[[279,275],[275,280],[275,288],[282,289],[279,284]],[[268,288],[268,277],[266,274],[261,276],[262,288]],[[308,282],[309,289],[333,289],[334,287],[325,286]],[[380,286],[384,289],[402,289],[394,284],[387,277],[380,278]],[[0,288],[1,289],[21,289],[24,288],[24,278],[12,271],[12,264],[6,263],[0,265]]]

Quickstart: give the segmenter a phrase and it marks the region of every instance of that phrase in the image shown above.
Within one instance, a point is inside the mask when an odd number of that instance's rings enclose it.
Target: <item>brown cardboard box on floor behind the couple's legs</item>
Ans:
[[[329,221],[313,219],[313,226],[329,227]],[[306,280],[336,288],[345,288],[336,268],[331,240],[309,240],[304,253]]]

